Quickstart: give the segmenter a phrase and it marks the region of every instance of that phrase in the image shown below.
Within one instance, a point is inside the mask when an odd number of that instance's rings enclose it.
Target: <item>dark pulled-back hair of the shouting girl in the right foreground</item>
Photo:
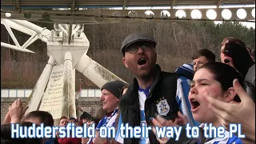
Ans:
[[[234,67],[226,65],[222,62],[208,62],[201,66],[200,69],[210,70],[210,73],[214,74],[214,79],[221,83],[222,90],[226,91],[230,87],[233,87],[233,81],[238,78],[239,83],[243,84],[243,78]],[[235,102],[241,102],[238,95],[234,97]]]

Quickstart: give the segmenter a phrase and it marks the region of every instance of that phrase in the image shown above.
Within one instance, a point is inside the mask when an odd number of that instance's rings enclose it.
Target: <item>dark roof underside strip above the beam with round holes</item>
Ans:
[[[22,7],[136,7],[136,6],[234,6],[254,5],[255,0],[1,0],[2,8]]]

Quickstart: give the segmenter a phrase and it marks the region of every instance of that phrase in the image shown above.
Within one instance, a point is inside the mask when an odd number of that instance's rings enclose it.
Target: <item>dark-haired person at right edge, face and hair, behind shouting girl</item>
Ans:
[[[255,63],[250,58],[245,42],[234,37],[222,40],[221,61],[234,67],[244,78],[244,89],[255,102]]]

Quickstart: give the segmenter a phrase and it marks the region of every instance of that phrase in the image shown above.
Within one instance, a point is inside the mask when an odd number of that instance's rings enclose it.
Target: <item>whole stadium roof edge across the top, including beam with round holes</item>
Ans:
[[[178,8],[181,6],[197,6],[194,9],[198,10]],[[225,10],[225,6],[231,8]],[[136,7],[137,10],[131,10]],[[193,13],[198,15],[193,17]],[[230,16],[225,18],[228,14]],[[255,0],[1,0],[1,16],[31,22],[70,24],[192,19],[255,22]]]

